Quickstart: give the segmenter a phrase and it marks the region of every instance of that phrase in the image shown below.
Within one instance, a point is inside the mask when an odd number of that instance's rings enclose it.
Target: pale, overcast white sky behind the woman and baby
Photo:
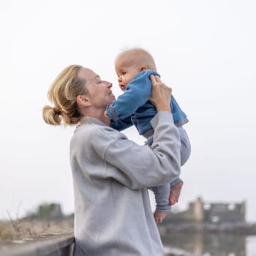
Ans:
[[[59,202],[73,211],[73,128],[42,120],[47,91],[69,64],[91,67],[118,89],[113,62],[146,48],[189,117],[192,155],[177,208],[246,200],[256,221],[254,0],[0,0],[0,218]],[[129,138],[143,143],[135,129]]]

